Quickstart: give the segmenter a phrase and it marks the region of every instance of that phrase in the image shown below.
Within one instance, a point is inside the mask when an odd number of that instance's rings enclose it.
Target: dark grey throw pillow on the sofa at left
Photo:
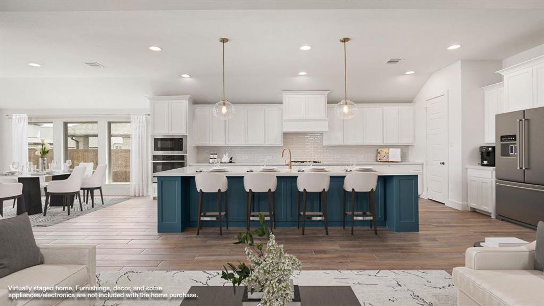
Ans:
[[[0,220],[0,278],[43,263],[25,212]]]

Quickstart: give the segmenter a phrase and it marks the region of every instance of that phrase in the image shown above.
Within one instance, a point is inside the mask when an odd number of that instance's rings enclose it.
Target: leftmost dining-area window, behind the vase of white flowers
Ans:
[[[51,147],[49,154],[46,155],[47,164],[50,164],[54,155],[53,123],[28,123],[28,161],[36,167],[39,167],[40,156],[36,155],[36,152],[41,149],[41,139],[44,139]]]

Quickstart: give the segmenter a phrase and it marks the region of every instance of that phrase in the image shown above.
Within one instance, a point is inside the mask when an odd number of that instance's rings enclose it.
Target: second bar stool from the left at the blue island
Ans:
[[[246,214],[246,228],[249,231],[249,223],[251,220],[258,220],[259,214],[264,215],[265,220],[270,222],[270,230],[272,226],[276,228],[276,186],[277,179],[275,175],[265,173],[251,173],[244,176],[244,188],[248,194],[248,209]],[[268,194],[268,212],[252,212],[251,203],[253,202],[253,194],[258,192],[266,192]]]

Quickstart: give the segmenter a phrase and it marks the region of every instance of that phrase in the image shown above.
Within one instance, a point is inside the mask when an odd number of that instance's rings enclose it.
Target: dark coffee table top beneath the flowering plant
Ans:
[[[349,305],[361,306],[350,286],[299,286],[302,306]],[[191,286],[187,293],[196,293],[197,298],[185,298],[180,306],[242,306],[244,287]]]

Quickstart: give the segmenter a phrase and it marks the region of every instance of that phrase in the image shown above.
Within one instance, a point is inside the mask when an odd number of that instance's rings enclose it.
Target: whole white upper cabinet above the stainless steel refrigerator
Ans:
[[[544,106],[544,56],[498,72],[504,76],[504,108],[500,112]]]

